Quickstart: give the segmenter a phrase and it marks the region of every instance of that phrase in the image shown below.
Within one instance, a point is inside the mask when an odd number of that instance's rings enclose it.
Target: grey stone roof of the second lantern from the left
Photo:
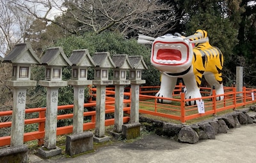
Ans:
[[[72,63],[65,55],[63,48],[60,46],[48,48],[41,58],[42,65],[47,66],[71,66]]]

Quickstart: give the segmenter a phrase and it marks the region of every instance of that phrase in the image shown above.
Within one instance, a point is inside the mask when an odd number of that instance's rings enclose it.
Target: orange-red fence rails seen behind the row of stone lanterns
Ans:
[[[129,103],[129,101],[125,100],[124,103]],[[115,104],[115,101],[106,101],[106,113],[114,113],[115,112],[115,108],[112,107],[113,104]],[[94,107],[94,106],[96,106],[95,102],[84,104],[84,108],[89,108],[89,107]],[[72,109],[72,108],[73,108],[73,104],[58,106],[58,110],[67,110],[67,109]],[[129,109],[130,109],[129,107],[125,107],[124,111],[129,111]],[[38,131],[24,133],[24,142],[38,139],[38,145],[44,144],[45,111],[46,111],[46,108],[26,109],[26,114],[27,113],[38,113],[37,118],[31,118],[31,119],[25,120],[25,125],[38,124]],[[0,112],[0,117],[8,116],[8,115],[12,115],[12,111],[1,111]],[[84,131],[90,130],[90,129],[95,129],[96,111],[84,112],[84,117],[91,117],[91,122],[84,123],[84,125],[83,125]],[[70,114],[65,114],[65,115],[58,115],[57,119],[61,120],[61,119],[67,119],[67,118],[73,118],[73,114],[70,113]],[[115,121],[114,118],[108,119],[105,121],[105,125],[106,126],[113,125],[114,121]],[[129,117],[124,117],[124,123],[127,123],[127,122],[129,122]],[[4,127],[11,127],[11,126],[12,126],[12,122],[1,122],[0,123],[0,129],[3,129]],[[73,125],[57,127],[57,135],[72,133],[72,131],[73,131],[72,127],[73,127]],[[11,139],[11,136],[0,137],[0,146],[10,145],[10,139]]]

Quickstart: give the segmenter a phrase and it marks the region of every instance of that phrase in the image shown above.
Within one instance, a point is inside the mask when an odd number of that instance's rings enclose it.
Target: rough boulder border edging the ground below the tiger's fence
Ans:
[[[172,124],[146,117],[140,117],[140,122],[147,131],[193,144],[201,139],[215,139],[216,134],[227,133],[229,129],[241,125],[256,123],[256,105],[191,125]]]

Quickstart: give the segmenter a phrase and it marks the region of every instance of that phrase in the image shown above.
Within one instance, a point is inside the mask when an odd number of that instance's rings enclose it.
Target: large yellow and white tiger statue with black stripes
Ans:
[[[161,71],[161,86],[157,97],[172,98],[177,78],[182,78],[186,86],[185,98],[200,98],[203,75],[211,88],[215,86],[216,95],[224,94],[221,74],[223,54],[219,48],[210,45],[206,31],[199,29],[188,37],[179,33],[166,34],[156,39],[141,35],[138,43],[152,44],[150,62]],[[223,98],[218,96],[216,100]],[[188,101],[186,104],[195,105],[196,101]],[[172,103],[165,99],[157,102]]]

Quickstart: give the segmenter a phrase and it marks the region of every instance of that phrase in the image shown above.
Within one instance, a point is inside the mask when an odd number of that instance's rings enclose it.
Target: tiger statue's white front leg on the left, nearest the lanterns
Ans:
[[[177,82],[176,77],[170,77],[162,73],[160,90],[159,92],[157,92],[156,96],[172,98],[172,92],[175,89],[176,82]],[[172,101],[166,100],[166,99],[157,99],[157,103],[172,103]]]

